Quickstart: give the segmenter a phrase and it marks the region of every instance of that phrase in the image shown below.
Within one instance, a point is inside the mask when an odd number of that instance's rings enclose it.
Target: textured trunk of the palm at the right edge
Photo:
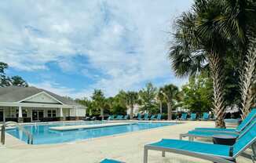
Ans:
[[[254,35],[247,35],[249,44],[244,60],[243,71],[240,74],[242,118],[245,118],[247,114],[250,113],[256,96],[253,92],[254,83],[256,82],[256,37],[253,37]]]

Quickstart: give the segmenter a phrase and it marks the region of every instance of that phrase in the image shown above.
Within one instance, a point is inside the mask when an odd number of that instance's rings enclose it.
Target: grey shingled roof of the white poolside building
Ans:
[[[64,103],[66,105],[76,105],[80,106],[79,103],[76,103],[74,100],[70,100],[67,97],[59,96],[53,92],[46,91],[45,89],[38,89],[36,87],[18,87],[18,86],[9,86],[0,88],[0,102],[20,102],[31,96],[34,96],[40,92],[46,92],[49,96],[53,96],[54,99]]]

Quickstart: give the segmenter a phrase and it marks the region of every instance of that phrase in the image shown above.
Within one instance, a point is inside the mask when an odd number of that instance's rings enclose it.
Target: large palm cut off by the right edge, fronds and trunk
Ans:
[[[256,82],[256,2],[254,0],[225,0],[225,13],[216,20],[222,37],[228,38],[238,49],[243,64],[240,73],[243,118],[251,111]]]

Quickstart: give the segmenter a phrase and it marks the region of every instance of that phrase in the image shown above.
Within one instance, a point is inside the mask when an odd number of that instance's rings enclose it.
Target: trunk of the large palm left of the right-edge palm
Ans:
[[[225,128],[225,106],[223,99],[223,73],[221,68],[221,60],[216,53],[212,53],[209,57],[209,62],[214,85],[213,111],[216,117],[215,126],[218,128]]]

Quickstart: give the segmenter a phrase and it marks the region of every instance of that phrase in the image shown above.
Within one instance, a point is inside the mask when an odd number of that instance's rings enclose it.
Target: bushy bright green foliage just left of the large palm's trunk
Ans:
[[[192,112],[209,111],[213,107],[213,91],[211,78],[192,75],[188,84],[182,86],[183,107]]]

